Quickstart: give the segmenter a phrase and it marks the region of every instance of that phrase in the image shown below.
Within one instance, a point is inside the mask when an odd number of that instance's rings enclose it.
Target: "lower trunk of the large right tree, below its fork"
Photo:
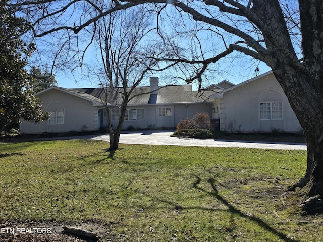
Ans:
[[[290,100],[306,136],[306,173],[290,189],[301,188],[305,197],[323,197],[323,75],[312,75],[288,67],[274,71],[274,74]],[[291,81],[287,82],[287,78]]]

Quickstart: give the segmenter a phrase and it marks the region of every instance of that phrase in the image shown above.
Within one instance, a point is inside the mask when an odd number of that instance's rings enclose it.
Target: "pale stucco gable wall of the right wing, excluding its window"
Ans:
[[[282,102],[282,119],[261,120],[260,102]],[[298,132],[301,126],[273,74],[223,94],[220,129],[228,132]]]

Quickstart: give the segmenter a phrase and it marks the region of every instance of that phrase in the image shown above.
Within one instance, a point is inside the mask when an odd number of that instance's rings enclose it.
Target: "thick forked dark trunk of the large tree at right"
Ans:
[[[260,26],[267,50],[264,61],[272,68],[306,136],[306,173],[291,189],[301,188],[307,198],[323,197],[323,5],[321,0],[298,1],[302,49],[297,51],[304,57],[299,62],[279,1],[252,2],[258,17],[255,24]]]

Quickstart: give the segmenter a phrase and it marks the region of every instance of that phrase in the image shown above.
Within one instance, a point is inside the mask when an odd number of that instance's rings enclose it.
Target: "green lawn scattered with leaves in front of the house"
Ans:
[[[284,189],[306,152],[0,143],[0,220],[90,223],[101,241],[319,241],[323,217],[300,215]],[[281,168],[283,167],[283,168]]]

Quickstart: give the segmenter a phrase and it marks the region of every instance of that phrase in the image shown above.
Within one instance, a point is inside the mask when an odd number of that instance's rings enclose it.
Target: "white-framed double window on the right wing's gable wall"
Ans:
[[[262,107],[262,104],[266,104],[266,106]],[[276,106],[277,104],[278,106]],[[282,120],[283,102],[260,102],[259,117],[260,120]]]

